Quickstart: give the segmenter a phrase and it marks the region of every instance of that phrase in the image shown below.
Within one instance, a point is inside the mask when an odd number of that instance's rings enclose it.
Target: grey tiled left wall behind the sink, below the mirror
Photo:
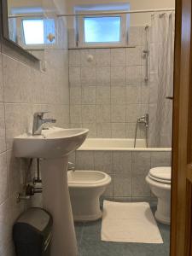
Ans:
[[[66,31],[66,29],[65,29]],[[67,38],[66,38],[67,39]],[[32,114],[50,111],[61,127],[69,125],[68,57],[66,49],[48,49],[46,73],[0,52],[0,255],[14,256],[12,225],[26,203],[22,191],[26,160],[15,159],[13,138],[32,129]]]

